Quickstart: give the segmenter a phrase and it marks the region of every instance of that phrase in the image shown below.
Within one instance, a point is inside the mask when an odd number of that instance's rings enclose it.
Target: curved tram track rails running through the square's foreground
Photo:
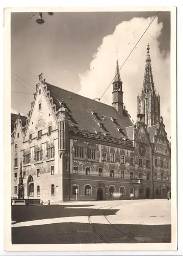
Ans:
[[[129,204],[129,203],[126,203],[126,204]],[[138,243],[138,241],[135,239],[135,237],[133,237],[133,236],[129,235],[128,233],[122,231],[121,229],[117,228],[117,227],[115,226],[115,224],[112,224],[112,223],[109,221],[109,219],[107,218],[107,216],[106,216],[108,210],[110,210],[110,209],[112,209],[112,208],[114,208],[114,207],[117,207],[117,206],[119,206],[119,205],[126,205],[126,204],[123,204],[123,203],[120,203],[120,204],[119,204],[119,203],[118,203],[118,204],[111,205],[108,209],[106,209],[106,210],[104,211],[103,217],[104,217],[104,219],[106,219],[106,221],[110,224],[110,226],[111,226],[114,230],[116,230],[116,231],[118,231],[120,234],[122,234],[123,237],[128,238],[129,241],[131,241],[132,243]],[[92,229],[93,229],[94,232],[97,234],[97,236],[99,237],[99,239],[101,240],[102,243],[111,243],[111,242],[109,242],[109,241],[101,234],[101,232],[95,227],[95,224],[96,224],[96,223],[92,223],[92,221],[91,221],[91,217],[94,216],[93,213],[94,213],[95,211],[100,210],[100,209],[105,208],[105,207],[108,207],[108,205],[99,207],[99,208],[97,208],[97,209],[94,209],[94,210],[91,212],[91,214],[88,216],[88,221],[89,221],[89,224],[92,226]],[[128,243],[130,243],[130,242],[128,242]]]

